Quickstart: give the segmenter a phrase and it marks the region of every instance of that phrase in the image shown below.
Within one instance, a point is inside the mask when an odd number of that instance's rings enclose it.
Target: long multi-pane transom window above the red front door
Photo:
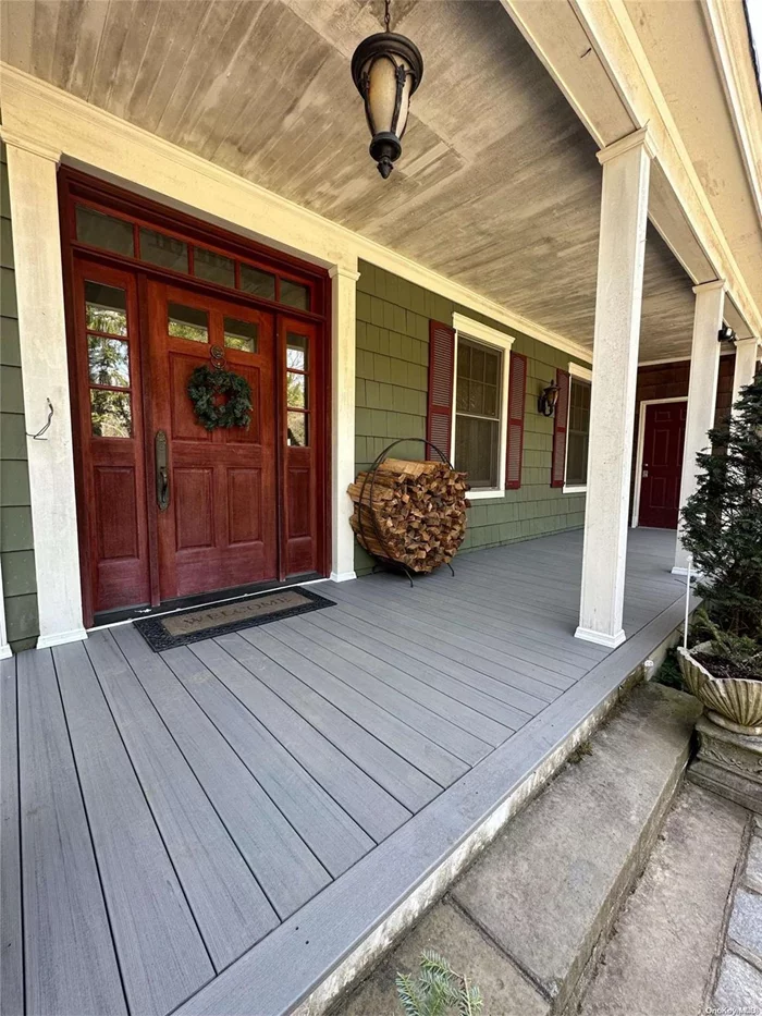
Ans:
[[[190,240],[112,215],[77,201],[74,212],[75,240],[99,250],[108,250],[146,265],[180,272],[204,282],[239,290],[294,310],[315,311],[314,286],[281,270],[230,257]],[[189,338],[189,336],[188,336]],[[202,340],[198,340],[202,341]]]

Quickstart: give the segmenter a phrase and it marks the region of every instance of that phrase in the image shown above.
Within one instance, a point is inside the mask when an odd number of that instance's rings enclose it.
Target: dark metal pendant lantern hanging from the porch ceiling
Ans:
[[[352,58],[352,79],[365,102],[365,114],[372,135],[370,156],[385,180],[402,154],[410,96],[423,76],[423,58],[404,35],[390,32],[389,0],[385,0],[385,30],[368,36]]]

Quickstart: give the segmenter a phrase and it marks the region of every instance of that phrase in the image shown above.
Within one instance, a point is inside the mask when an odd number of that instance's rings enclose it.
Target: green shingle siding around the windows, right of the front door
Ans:
[[[521,487],[494,500],[475,501],[464,550],[529,540],[585,523],[585,495],[550,486],[553,420],[537,412],[540,391],[567,369],[569,355],[529,335],[511,332],[483,315],[360,261],[357,283],[356,464],[358,472],[396,438],[426,437],[429,321],[450,323],[453,311],[515,336],[513,348],[528,358]],[[574,357],[572,357],[574,358]],[[400,458],[418,458],[419,443],[401,445]],[[356,548],[355,567],[370,558]]]

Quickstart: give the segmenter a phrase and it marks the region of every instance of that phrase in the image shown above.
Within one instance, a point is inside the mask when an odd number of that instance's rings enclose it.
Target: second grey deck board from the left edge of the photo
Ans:
[[[17,668],[26,1011],[126,1013],[50,650]]]

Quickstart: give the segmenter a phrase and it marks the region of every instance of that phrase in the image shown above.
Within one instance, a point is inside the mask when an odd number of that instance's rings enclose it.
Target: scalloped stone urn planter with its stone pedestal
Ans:
[[[688,650],[677,652],[686,687],[706,709],[696,724],[698,752],[688,778],[762,815],[762,682],[714,677]]]

